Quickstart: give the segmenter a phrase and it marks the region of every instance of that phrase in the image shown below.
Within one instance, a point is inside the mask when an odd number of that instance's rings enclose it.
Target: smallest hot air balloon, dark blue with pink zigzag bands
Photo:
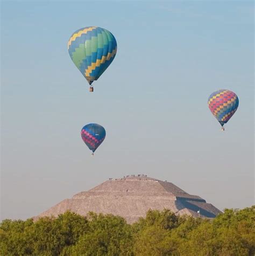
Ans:
[[[103,126],[97,123],[89,123],[84,126],[81,130],[81,137],[85,144],[90,150],[92,150],[92,155],[96,149],[100,146],[105,138],[105,129]]]

